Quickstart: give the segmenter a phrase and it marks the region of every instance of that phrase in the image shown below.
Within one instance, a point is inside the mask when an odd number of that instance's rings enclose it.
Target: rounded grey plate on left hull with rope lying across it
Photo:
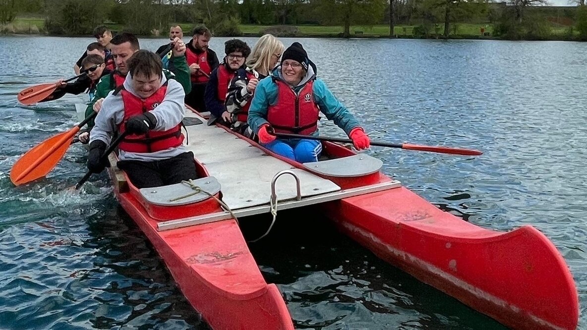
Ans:
[[[203,177],[201,179],[192,181],[195,186],[207,191],[211,195],[217,194],[220,191],[220,183],[215,177]],[[173,200],[177,197],[186,196],[194,193],[195,190],[190,185],[185,183],[170,184],[168,186],[141,188],[139,189],[141,196],[151,204],[160,206],[178,206],[197,203],[210,198],[208,194],[200,192],[192,196],[181,198],[180,200]]]

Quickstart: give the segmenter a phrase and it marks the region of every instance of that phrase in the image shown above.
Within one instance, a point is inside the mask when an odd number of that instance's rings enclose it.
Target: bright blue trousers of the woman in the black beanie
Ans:
[[[279,156],[298,161],[298,163],[318,161],[322,152],[322,143],[316,140],[276,139],[263,146]]]

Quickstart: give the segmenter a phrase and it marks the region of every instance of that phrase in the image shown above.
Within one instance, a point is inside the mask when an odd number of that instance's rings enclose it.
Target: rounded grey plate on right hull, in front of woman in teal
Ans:
[[[311,163],[303,163],[303,166],[307,170],[323,176],[359,177],[376,173],[383,167],[383,161],[363,153],[342,158],[312,161]]]

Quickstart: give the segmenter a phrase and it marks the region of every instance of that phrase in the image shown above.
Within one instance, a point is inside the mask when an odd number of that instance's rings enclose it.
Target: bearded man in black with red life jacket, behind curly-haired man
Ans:
[[[187,43],[185,56],[191,73],[191,92],[185,93],[185,104],[198,112],[205,112],[204,92],[212,70],[219,65],[218,56],[208,48],[212,33],[204,25],[194,28],[193,38]]]

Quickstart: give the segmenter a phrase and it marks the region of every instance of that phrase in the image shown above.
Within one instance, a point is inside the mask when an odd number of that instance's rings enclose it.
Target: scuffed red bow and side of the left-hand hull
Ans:
[[[236,221],[157,231],[158,221],[130,193],[116,196],[213,329],[294,329],[279,289],[265,282]]]

